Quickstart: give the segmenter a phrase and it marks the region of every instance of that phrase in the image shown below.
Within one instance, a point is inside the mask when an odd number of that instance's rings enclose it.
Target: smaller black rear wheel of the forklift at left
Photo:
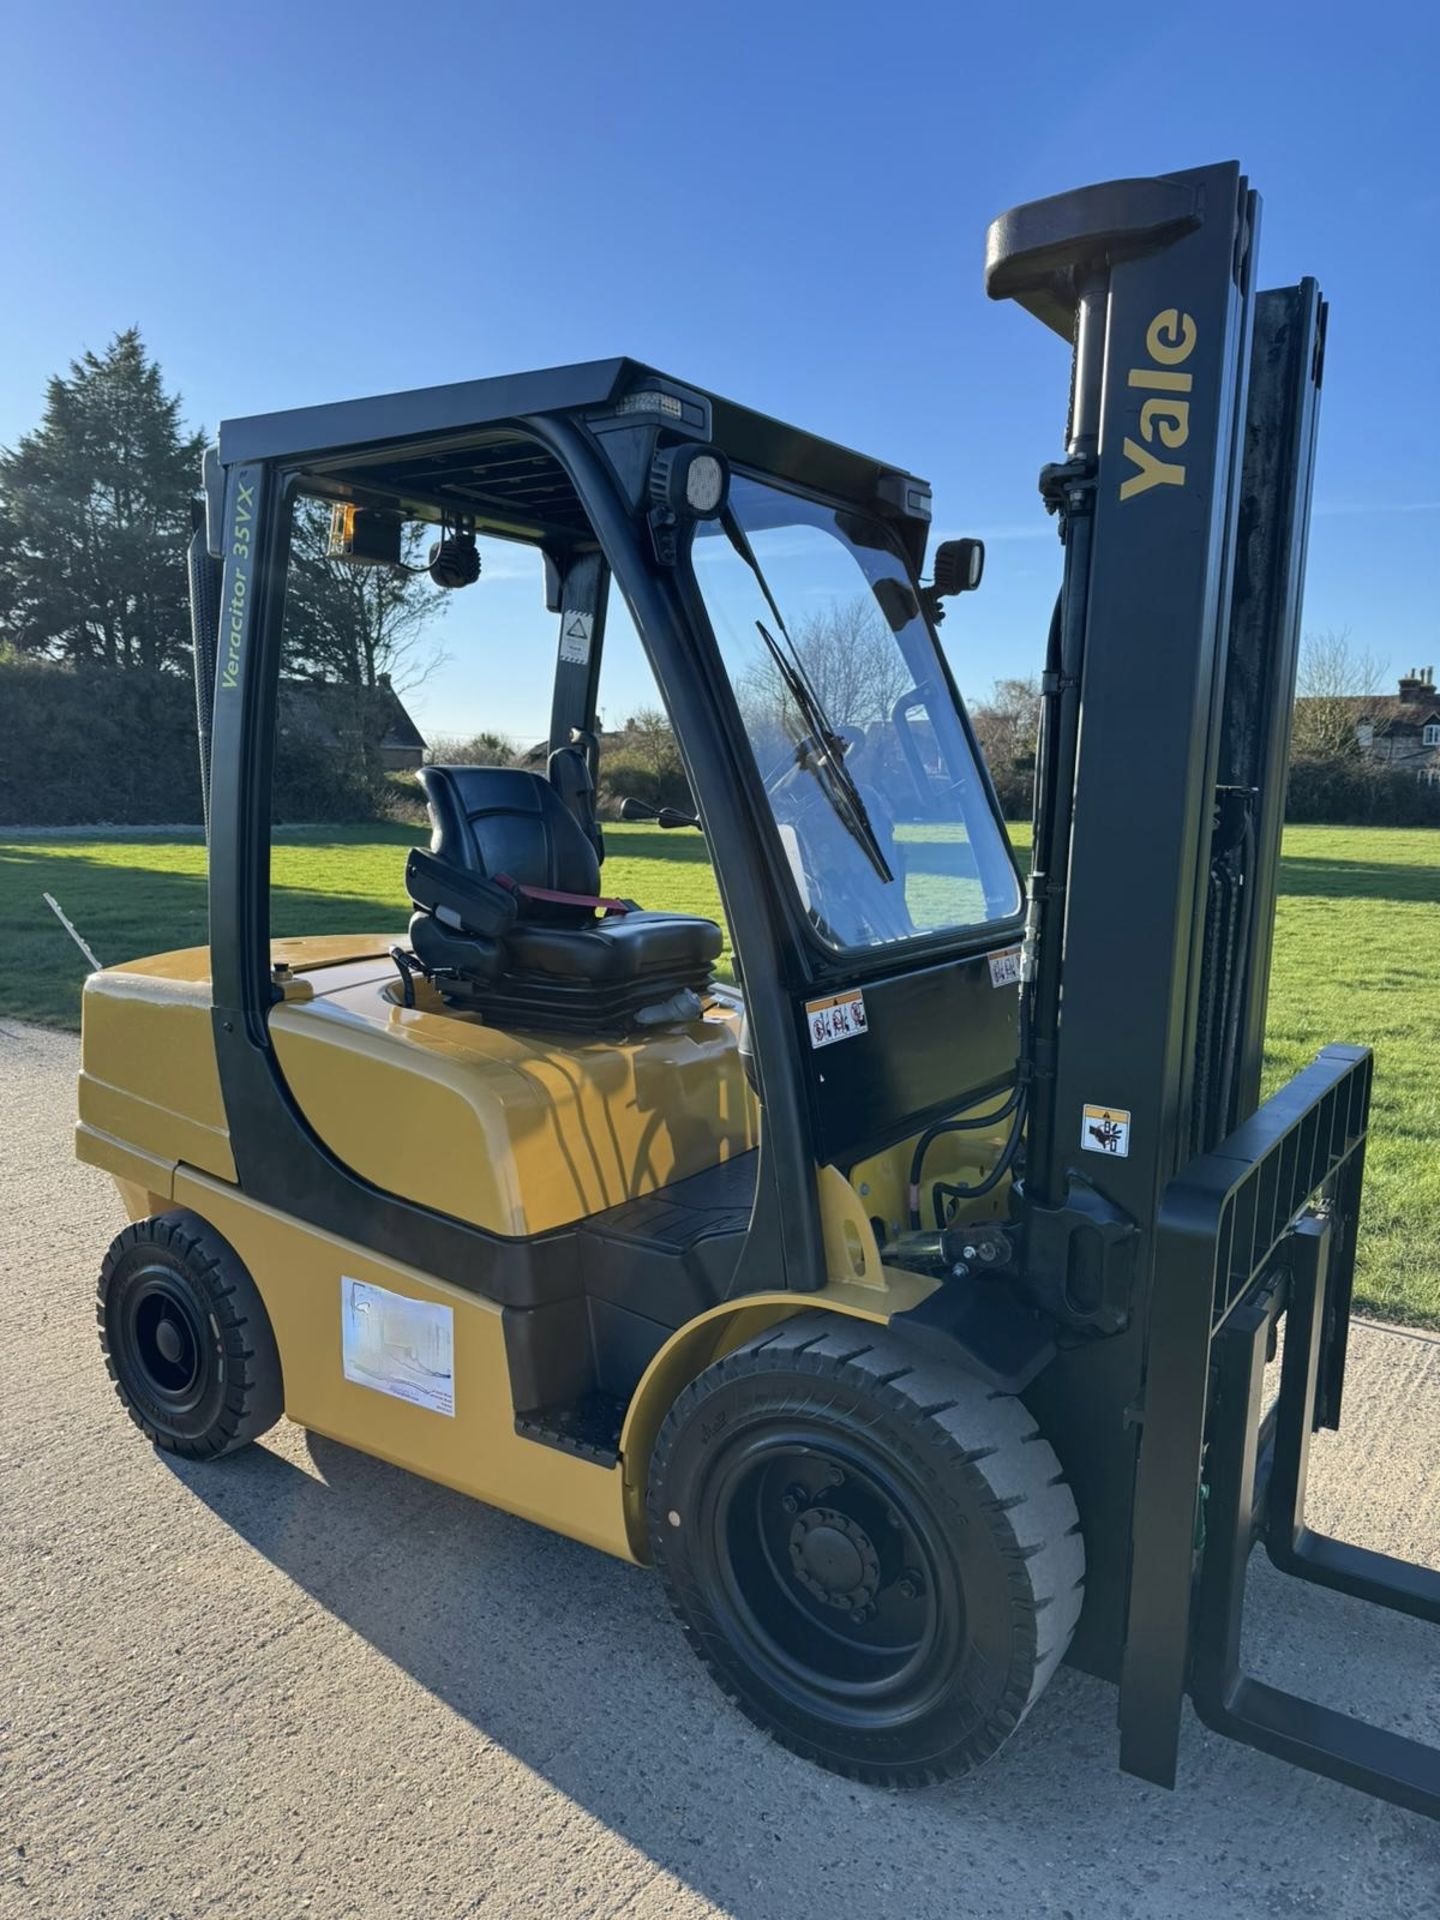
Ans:
[[[119,1235],[100,1269],[96,1317],[121,1405],[156,1446],[215,1459],[280,1419],[265,1304],[198,1213],[157,1213]]]

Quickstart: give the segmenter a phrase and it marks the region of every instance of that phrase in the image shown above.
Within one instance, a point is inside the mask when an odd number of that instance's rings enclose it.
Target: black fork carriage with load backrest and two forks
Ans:
[[[1240,1667],[1256,1540],[1281,1572],[1440,1624],[1440,1572],[1315,1534],[1304,1517],[1309,1436],[1340,1419],[1369,1073],[1363,1048],[1327,1048],[1165,1194],[1173,1296],[1152,1331],[1121,1766],[1173,1786],[1188,1690],[1215,1732],[1440,1818],[1440,1749]],[[1196,1325],[1200,1315],[1212,1325]],[[1261,1411],[1281,1319],[1281,1388]],[[1198,1434],[1196,1521],[1179,1475]]]

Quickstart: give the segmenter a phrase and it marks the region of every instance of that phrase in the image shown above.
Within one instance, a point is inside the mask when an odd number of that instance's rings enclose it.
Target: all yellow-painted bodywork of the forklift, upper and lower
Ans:
[[[712,1008],[626,1041],[503,1033],[426,989],[405,1008],[380,937],[276,941],[280,1066],[326,1144],[390,1192],[503,1235],[534,1235],[645,1194],[756,1142],[737,1021]],[[937,1142],[927,1179],[993,1164],[989,1131]],[[275,1325],[290,1419],[622,1559],[649,1557],[655,1436],[685,1384],[793,1313],[877,1325],[935,1281],[885,1267],[872,1219],[904,1215],[910,1142],[847,1179],[818,1169],[828,1284],[751,1294],[678,1329],[639,1380],[605,1467],[515,1432],[501,1309],[447,1281],[261,1206],[234,1185],[205,948],[86,983],[77,1152],[115,1175],[131,1219],[186,1206],[236,1248]],[[342,1279],[447,1306],[455,1413],[344,1377]]]

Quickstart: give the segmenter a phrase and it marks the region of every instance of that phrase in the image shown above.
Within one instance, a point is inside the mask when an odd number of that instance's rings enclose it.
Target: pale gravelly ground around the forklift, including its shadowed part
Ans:
[[[1116,1770],[1064,1670],[968,1786],[772,1747],[657,1582],[282,1427],[154,1453],[100,1365],[121,1227],[71,1160],[73,1037],[0,1023],[0,1914],[893,1920],[1440,1910],[1440,1828],[1185,1730]],[[1313,1519],[1440,1563],[1440,1342],[1361,1327]],[[1269,1678],[1440,1740],[1434,1632],[1256,1563]]]

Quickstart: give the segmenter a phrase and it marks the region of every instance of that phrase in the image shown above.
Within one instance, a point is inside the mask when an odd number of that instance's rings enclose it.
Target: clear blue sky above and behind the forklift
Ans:
[[[138,323],[188,417],[634,353],[877,453],[983,534],[962,687],[1033,670],[1066,349],[989,219],[1238,157],[1261,280],[1332,303],[1306,626],[1440,662],[1432,6],[125,8],[0,0],[0,442]],[[538,582],[492,564],[422,726],[543,732]],[[611,718],[645,684],[616,655]]]

